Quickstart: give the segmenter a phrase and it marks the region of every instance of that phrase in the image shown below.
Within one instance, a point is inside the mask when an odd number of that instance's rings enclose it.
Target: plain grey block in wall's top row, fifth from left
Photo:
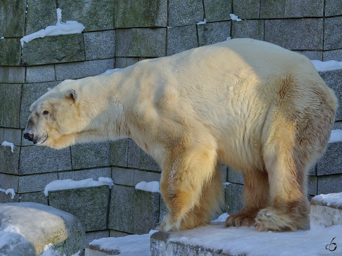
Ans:
[[[196,24],[204,19],[201,0],[169,0],[169,26]]]

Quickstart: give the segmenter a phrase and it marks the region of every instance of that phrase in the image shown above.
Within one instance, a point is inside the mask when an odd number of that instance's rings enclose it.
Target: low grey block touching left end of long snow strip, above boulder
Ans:
[[[44,191],[46,185],[58,180],[57,173],[19,176],[18,193]]]

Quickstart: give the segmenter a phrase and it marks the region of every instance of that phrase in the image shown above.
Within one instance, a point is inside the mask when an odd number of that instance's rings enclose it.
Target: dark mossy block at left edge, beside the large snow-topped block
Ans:
[[[20,39],[0,39],[0,53],[1,66],[19,66],[21,63]]]

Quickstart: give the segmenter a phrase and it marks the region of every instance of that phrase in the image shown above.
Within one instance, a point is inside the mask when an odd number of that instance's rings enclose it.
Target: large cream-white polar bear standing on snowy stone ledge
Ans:
[[[24,138],[56,149],[133,139],[162,167],[169,213],[159,230],[210,223],[222,202],[219,162],[245,180],[245,205],[226,226],[297,230],[307,224],[306,174],[336,108],[309,59],[233,39],[65,80],[31,105]]]

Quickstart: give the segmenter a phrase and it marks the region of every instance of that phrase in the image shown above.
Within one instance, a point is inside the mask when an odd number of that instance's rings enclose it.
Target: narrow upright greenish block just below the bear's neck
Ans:
[[[110,164],[127,167],[128,139],[111,142]]]

